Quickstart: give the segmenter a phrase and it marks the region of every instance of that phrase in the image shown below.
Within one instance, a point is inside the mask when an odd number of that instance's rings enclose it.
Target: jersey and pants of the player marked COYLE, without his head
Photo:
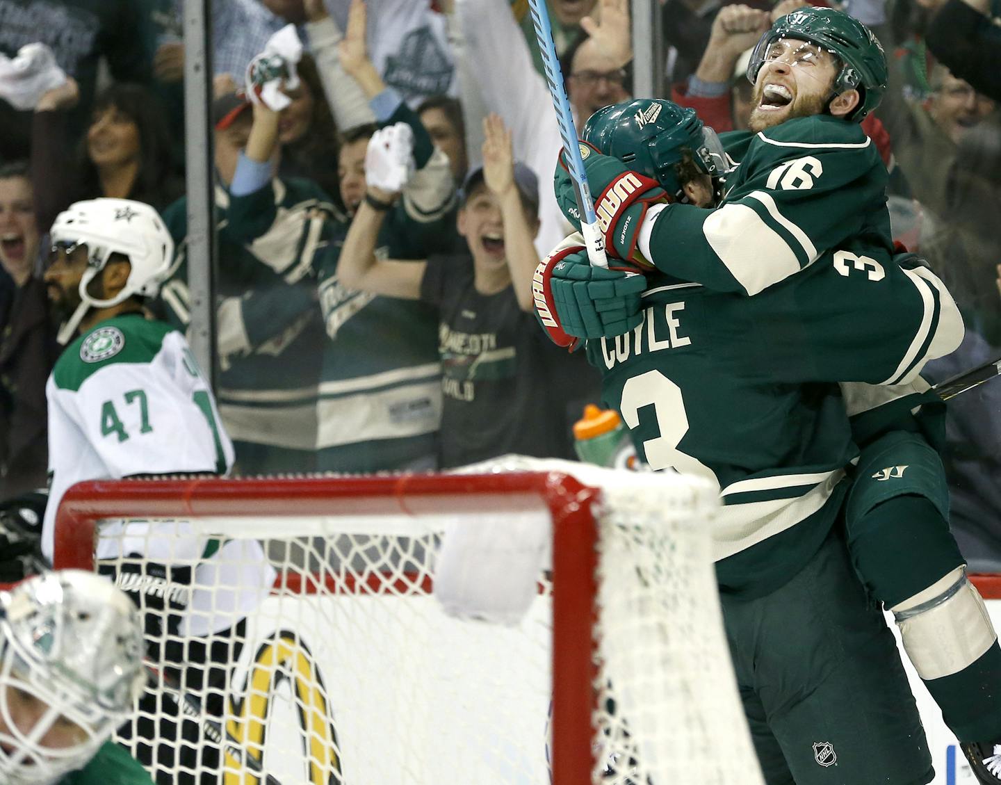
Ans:
[[[871,266],[842,274],[839,252]],[[643,321],[587,350],[638,454],[721,488],[717,577],[766,782],[930,782],[896,645],[845,544],[858,450],[836,382],[910,383],[958,343],[955,304],[862,241],[754,297],[647,279]]]

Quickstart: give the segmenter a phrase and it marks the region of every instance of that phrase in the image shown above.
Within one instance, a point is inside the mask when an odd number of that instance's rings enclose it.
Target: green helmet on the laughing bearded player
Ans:
[[[748,79],[754,84],[768,59],[772,44],[782,38],[809,41],[834,53],[841,60],[835,92],[858,90],[861,100],[848,116],[861,122],[877,106],[886,91],[887,67],[883,47],[862,22],[834,8],[806,6],[776,20],[751,54]]]

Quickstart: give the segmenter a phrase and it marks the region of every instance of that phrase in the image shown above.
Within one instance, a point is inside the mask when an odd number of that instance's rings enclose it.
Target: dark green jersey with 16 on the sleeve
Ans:
[[[720,205],[651,208],[640,250],[658,269],[756,294],[853,238],[892,248],[886,166],[857,123],[801,117],[722,136],[740,165]]]

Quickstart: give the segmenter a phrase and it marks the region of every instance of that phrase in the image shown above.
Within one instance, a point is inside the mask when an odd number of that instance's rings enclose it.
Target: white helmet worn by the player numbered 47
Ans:
[[[71,204],[60,212],[50,230],[53,248],[67,253],[78,245],[87,247],[87,269],[80,278],[80,304],[59,330],[59,342],[67,343],[86,312],[107,308],[138,294],[156,295],[161,278],[170,269],[174,241],[155,209],[131,199],[89,199]],[[115,296],[92,297],[87,287],[104,269],[112,253],[128,257],[128,280]]]

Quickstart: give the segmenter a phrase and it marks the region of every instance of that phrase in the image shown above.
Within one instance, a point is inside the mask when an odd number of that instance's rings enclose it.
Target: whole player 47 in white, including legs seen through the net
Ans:
[[[233,461],[211,390],[183,335],[148,319],[143,309],[173,256],[156,210],[127,199],[75,202],[56,218],[51,240],[49,298],[67,319],[63,341],[78,334],[46,387],[50,492],[42,552],[50,561],[59,503],[74,484],[225,474]],[[238,653],[238,642],[227,640],[242,626],[234,621],[266,596],[274,579],[261,546],[253,540],[220,543],[196,535],[185,522],[113,522],[101,529],[97,558],[101,572],[114,575],[143,611],[151,658],[168,664],[168,677],[183,676],[189,689],[209,690],[202,695],[206,707],[220,714],[228,662]],[[227,581],[242,588],[226,590]],[[227,612],[213,615],[220,607]],[[216,643],[222,639],[229,653],[213,657],[215,643],[200,639],[208,634]],[[184,723],[189,745],[160,725],[140,721],[136,730],[159,739],[151,760],[139,747],[143,763],[158,766],[158,780],[194,781],[168,771],[178,762],[193,768],[190,761],[199,760],[203,771],[213,769],[211,751],[198,749],[192,723]]]

